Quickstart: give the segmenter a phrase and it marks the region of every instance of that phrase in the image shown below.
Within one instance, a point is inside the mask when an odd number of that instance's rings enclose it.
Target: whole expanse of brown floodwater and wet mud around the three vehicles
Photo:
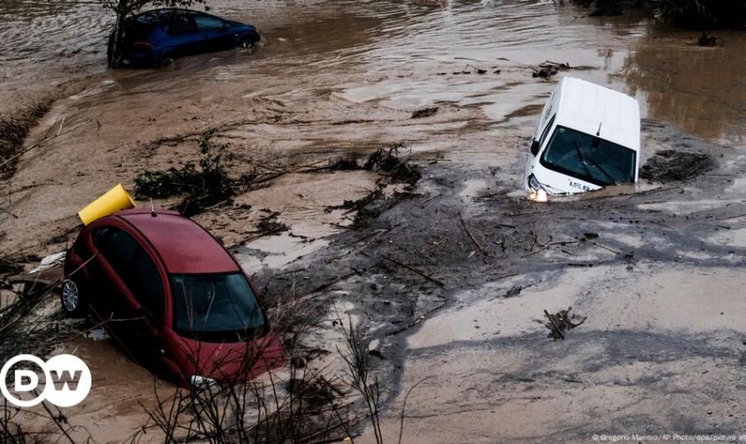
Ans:
[[[310,367],[338,369],[337,314],[365,326],[386,381],[387,441],[398,438],[404,396],[427,377],[409,395],[406,442],[742,432],[743,36],[718,33],[722,46],[700,48],[694,34],[644,18],[543,2],[212,6],[257,24],[265,44],[106,71],[106,19],[77,4],[96,20],[54,75],[39,68],[60,59],[44,39],[3,52],[16,57],[3,64],[0,98],[13,98],[4,116],[87,76],[30,128],[24,147],[52,139],[0,185],[12,213],[0,212],[3,257],[63,250],[76,211],[102,190],[197,162],[213,131],[231,178],[266,181],[195,219],[234,250],[268,305],[302,302],[298,316],[315,325],[301,356]],[[0,35],[18,42],[19,30],[53,28],[50,7],[20,25],[4,4]],[[581,69],[535,77],[547,59]],[[708,169],[695,159],[684,172],[696,174],[664,183],[526,200],[528,134],[561,75],[640,99],[651,118],[641,164],[675,149],[704,153]],[[411,189],[380,187],[381,170],[326,168],[362,165],[393,144],[421,169]],[[91,325],[62,319],[58,304],[36,307],[26,342],[4,352],[29,345],[92,362],[94,390],[69,424],[127,440],[146,420],[140,403],[155,402],[153,377],[110,340],[81,336]],[[569,306],[586,320],[548,338],[544,310]]]

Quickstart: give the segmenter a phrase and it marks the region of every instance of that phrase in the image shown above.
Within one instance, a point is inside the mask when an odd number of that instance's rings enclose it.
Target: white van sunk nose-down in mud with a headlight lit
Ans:
[[[544,106],[526,162],[532,198],[637,182],[639,105],[622,92],[565,77]]]

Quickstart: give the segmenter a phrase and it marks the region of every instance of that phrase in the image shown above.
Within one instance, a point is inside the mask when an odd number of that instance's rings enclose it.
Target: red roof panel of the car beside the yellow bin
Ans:
[[[163,259],[169,273],[240,271],[231,255],[202,226],[176,211],[124,210],[115,214],[137,228]]]

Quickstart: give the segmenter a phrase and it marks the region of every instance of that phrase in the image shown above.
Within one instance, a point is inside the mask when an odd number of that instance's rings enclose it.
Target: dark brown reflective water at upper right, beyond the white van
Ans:
[[[718,32],[724,45],[702,48],[692,33],[650,27],[631,47],[623,79],[647,115],[705,139],[746,140],[746,36]]]

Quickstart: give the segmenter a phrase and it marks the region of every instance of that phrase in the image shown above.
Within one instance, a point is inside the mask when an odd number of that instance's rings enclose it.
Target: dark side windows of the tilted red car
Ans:
[[[93,242],[132,296],[160,324],[164,312],[163,281],[147,251],[130,234],[115,227],[95,232]]]

